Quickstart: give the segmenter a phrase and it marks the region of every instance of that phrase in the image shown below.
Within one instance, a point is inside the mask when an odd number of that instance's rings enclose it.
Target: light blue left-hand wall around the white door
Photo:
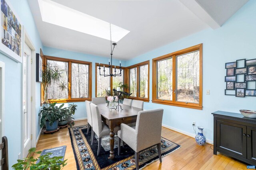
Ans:
[[[15,15],[20,18],[35,49],[40,52],[43,47],[40,40],[34,18],[26,0],[9,0],[14,8]],[[4,134],[8,138],[9,166],[11,167],[18,159],[21,152],[21,68],[22,64],[17,63],[0,53],[0,61],[5,63],[5,113],[4,113]],[[34,60],[35,61],[35,60]],[[36,84],[36,94],[40,94],[40,84]],[[40,109],[40,95],[36,96],[36,114]],[[38,105],[39,104],[39,105]],[[38,117],[38,116],[37,116]],[[36,122],[38,124],[38,120]],[[38,127],[37,127],[38,128]],[[10,168],[11,169],[11,168]]]

